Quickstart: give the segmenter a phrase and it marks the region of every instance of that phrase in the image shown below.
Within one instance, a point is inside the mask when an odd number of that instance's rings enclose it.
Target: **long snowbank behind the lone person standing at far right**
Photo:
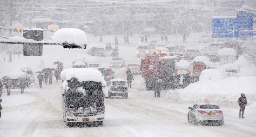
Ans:
[[[185,89],[170,90],[167,98],[182,103],[198,103],[205,99],[219,105],[237,105],[241,93],[247,97],[248,105],[256,102],[256,77],[227,78],[191,83]]]

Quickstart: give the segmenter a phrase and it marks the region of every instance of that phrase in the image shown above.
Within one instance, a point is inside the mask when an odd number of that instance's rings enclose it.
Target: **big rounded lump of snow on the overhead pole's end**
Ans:
[[[85,32],[77,28],[61,28],[52,37],[57,43],[67,42],[83,47],[87,44]],[[83,47],[84,48],[84,47]]]

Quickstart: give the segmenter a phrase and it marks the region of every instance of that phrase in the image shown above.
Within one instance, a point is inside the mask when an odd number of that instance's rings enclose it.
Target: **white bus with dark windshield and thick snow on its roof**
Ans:
[[[107,85],[102,73],[92,68],[68,68],[61,72],[63,118],[67,126],[74,123],[102,125],[104,95]]]

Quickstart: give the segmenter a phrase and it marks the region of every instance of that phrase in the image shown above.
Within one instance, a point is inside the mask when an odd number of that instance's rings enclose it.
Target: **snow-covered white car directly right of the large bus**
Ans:
[[[121,78],[110,80],[110,89],[108,90],[108,97],[128,98],[128,84]]]

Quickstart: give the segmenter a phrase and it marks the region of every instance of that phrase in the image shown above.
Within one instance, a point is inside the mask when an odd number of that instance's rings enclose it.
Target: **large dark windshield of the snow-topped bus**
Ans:
[[[104,106],[101,82],[84,81],[76,79],[68,83],[66,104],[68,108],[96,108]]]

